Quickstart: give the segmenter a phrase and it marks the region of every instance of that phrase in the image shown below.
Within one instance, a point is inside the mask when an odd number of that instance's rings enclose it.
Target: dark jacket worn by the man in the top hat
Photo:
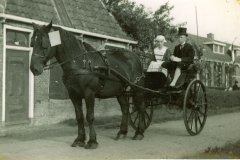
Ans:
[[[182,63],[184,63],[184,64],[192,64],[194,55],[195,55],[195,51],[194,51],[192,45],[189,43],[185,43],[183,48],[180,50],[180,44],[179,44],[174,48],[173,55],[175,57],[181,58]]]

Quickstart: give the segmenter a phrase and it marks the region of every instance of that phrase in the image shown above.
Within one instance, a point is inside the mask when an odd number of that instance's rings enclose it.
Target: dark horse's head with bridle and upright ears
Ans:
[[[33,53],[31,57],[30,69],[34,75],[40,75],[43,72],[49,59],[51,59],[56,52],[55,47],[51,47],[48,33],[52,28],[52,22],[47,26],[39,26],[33,23],[34,33],[31,38],[31,47]]]

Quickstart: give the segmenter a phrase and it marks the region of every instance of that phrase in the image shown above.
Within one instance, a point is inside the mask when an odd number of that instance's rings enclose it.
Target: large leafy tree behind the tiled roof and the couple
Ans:
[[[128,0],[102,0],[106,8],[118,21],[123,31],[134,40],[138,47],[153,48],[153,40],[157,35],[164,35],[167,40],[173,41],[179,26],[173,25],[170,11],[173,6],[165,3],[155,12],[146,9],[143,5],[136,5]]]

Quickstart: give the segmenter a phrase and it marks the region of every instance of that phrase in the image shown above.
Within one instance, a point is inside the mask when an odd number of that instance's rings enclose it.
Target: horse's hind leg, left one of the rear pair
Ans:
[[[122,110],[122,122],[120,126],[120,131],[117,134],[115,140],[124,139],[127,136],[128,132],[128,109],[129,104],[127,101],[127,97],[122,93],[121,95],[117,96],[118,103],[121,106]]]

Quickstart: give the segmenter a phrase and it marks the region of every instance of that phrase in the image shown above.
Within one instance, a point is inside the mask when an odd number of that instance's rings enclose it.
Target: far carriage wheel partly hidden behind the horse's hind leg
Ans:
[[[129,103],[129,122],[130,125],[137,130],[138,128],[138,124],[139,124],[139,111],[138,108],[134,105],[133,103],[133,98],[132,97],[128,97],[128,103]],[[153,105],[152,102],[146,104],[145,107],[145,111],[144,111],[144,130],[146,130],[151,121],[152,121],[152,117],[153,117]]]

